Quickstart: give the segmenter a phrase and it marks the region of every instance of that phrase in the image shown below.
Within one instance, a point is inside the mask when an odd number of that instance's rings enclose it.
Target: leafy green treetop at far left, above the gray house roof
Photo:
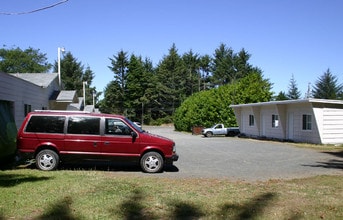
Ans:
[[[4,73],[46,73],[52,65],[48,63],[46,54],[39,49],[19,47],[0,49],[0,71]]]

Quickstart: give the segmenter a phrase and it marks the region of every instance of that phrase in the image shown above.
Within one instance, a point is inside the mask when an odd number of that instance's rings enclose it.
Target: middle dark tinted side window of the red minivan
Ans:
[[[100,134],[100,118],[71,116],[68,119],[68,134]]]

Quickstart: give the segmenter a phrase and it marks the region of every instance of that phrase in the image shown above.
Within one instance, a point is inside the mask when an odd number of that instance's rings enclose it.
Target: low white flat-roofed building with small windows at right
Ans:
[[[304,99],[231,105],[241,133],[314,144],[343,144],[343,101]]]

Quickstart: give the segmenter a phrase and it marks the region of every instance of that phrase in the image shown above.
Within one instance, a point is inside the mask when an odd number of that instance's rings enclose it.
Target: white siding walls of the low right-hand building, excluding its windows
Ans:
[[[342,105],[343,107],[343,105]],[[275,104],[251,104],[235,106],[235,114],[239,114],[241,132],[247,136],[265,136],[271,139],[288,139],[292,137],[295,142],[305,143],[343,143],[343,109],[335,111],[332,108],[325,110],[323,117],[323,108],[313,108],[311,102],[276,102]],[[255,117],[255,125],[249,126],[249,115]],[[290,123],[289,115],[292,115]],[[272,126],[272,115],[279,116],[278,127]],[[312,116],[311,130],[303,129],[303,115]],[[324,122],[323,118],[325,118]],[[325,124],[325,126],[323,126]],[[288,126],[293,126],[291,129]],[[288,132],[292,134],[289,135]],[[322,131],[322,132],[319,132]],[[321,138],[323,137],[323,138]]]

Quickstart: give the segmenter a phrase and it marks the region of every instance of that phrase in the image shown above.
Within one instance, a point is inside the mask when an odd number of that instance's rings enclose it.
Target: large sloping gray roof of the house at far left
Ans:
[[[47,88],[58,76],[57,73],[14,73],[11,75],[43,88]]]

